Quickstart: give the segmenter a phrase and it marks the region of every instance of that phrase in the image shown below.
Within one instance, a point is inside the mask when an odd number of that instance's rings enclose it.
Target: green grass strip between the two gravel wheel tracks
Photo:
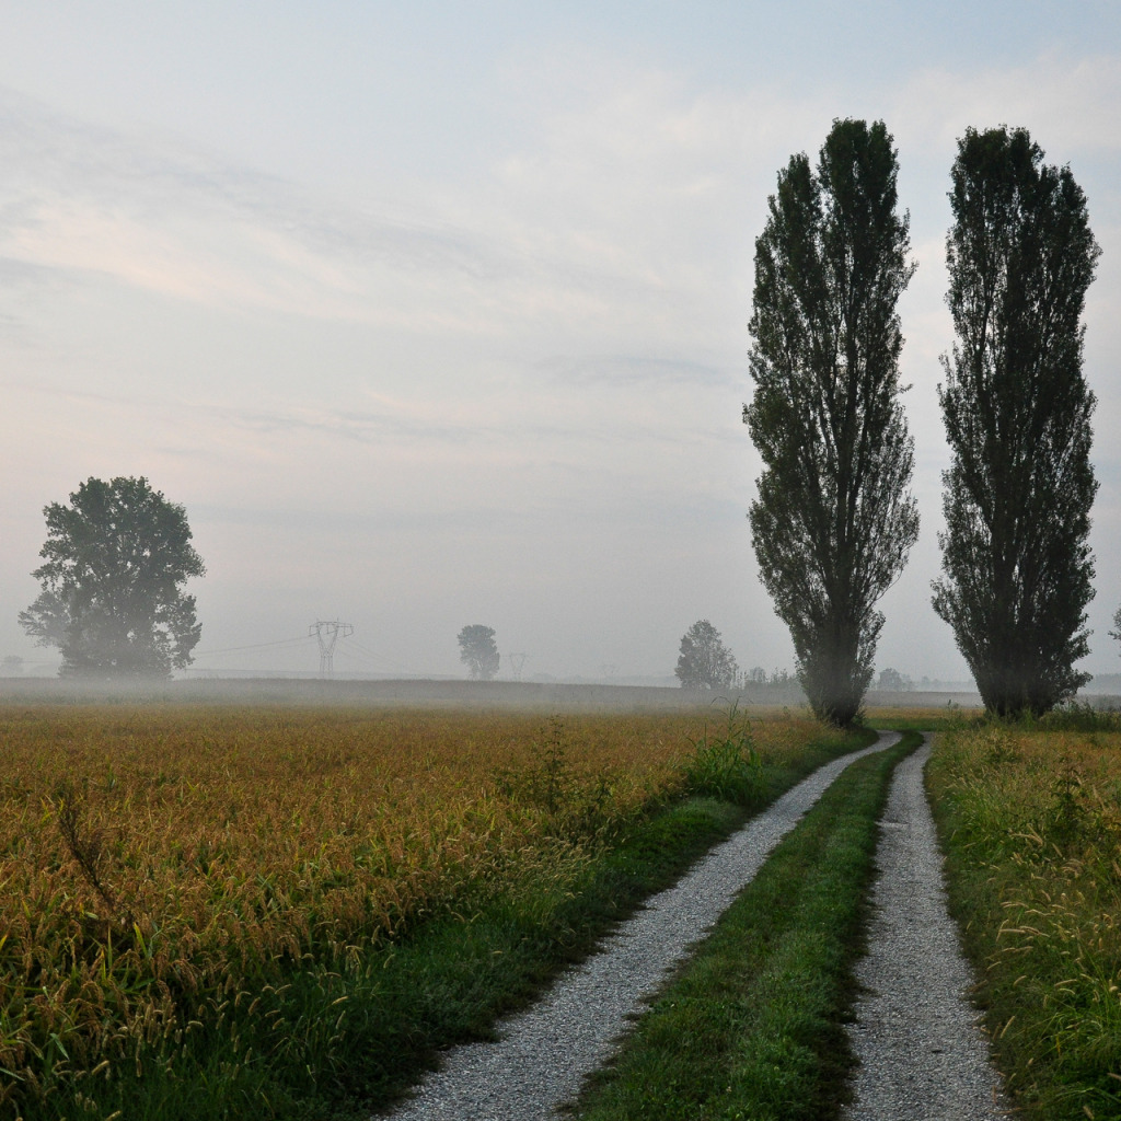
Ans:
[[[919,742],[907,733],[825,793],[594,1077],[582,1121],[836,1115],[877,822]]]

